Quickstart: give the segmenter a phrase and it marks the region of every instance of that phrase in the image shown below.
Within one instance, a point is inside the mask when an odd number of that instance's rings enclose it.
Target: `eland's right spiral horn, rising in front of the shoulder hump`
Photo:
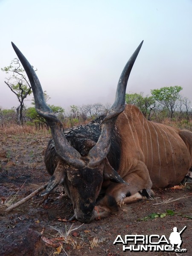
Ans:
[[[142,47],[143,41],[135,50],[134,54],[125,65],[116,89],[115,101],[109,109],[107,116],[101,124],[101,134],[96,145],[90,149],[88,156],[90,157],[90,166],[97,166],[108,154],[111,146],[111,136],[114,125],[119,114],[125,109],[125,92],[131,69]]]

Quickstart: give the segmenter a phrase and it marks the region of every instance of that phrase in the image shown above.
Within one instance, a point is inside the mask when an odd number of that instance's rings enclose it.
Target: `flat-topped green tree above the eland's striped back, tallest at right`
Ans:
[[[181,90],[183,90],[181,86],[161,87],[160,89],[151,90],[151,95],[160,103],[162,108],[167,108],[169,116],[172,118],[177,108]]]

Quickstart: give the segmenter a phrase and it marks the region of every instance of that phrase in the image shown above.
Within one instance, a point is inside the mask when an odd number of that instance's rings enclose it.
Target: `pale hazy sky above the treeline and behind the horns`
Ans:
[[[179,85],[192,101],[192,0],[0,0],[0,67],[16,54],[38,69],[49,104],[113,103],[144,40],[127,93]],[[17,106],[0,70],[0,106]],[[30,105],[30,102],[27,102]]]

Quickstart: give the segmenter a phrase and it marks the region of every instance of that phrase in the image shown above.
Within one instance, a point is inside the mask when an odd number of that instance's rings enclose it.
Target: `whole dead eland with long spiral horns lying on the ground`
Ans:
[[[31,83],[36,110],[52,133],[45,153],[52,177],[42,195],[63,184],[73,217],[81,222],[105,218],[120,204],[152,196],[151,188],[176,185],[190,174],[192,133],[149,122],[137,107],[125,105],[128,77],[142,44],[122,71],[108,113],[64,131],[44,100],[35,71],[12,43]]]

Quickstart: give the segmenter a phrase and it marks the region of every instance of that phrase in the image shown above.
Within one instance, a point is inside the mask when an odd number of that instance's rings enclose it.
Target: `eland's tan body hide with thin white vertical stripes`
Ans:
[[[192,166],[192,132],[150,122],[134,105],[125,106],[116,128],[122,138],[118,173],[131,194],[150,188],[151,181],[153,188],[176,185]]]

